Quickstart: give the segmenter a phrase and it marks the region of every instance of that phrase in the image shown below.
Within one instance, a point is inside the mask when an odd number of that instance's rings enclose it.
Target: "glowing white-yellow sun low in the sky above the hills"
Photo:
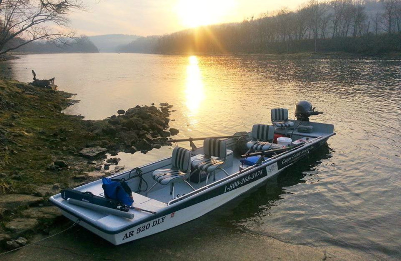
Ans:
[[[235,0],[179,0],[176,13],[184,27],[219,24],[235,6]]]

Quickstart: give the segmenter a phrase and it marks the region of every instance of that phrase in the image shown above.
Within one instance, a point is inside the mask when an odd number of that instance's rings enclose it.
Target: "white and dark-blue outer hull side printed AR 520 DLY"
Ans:
[[[156,215],[149,215],[147,219],[139,224],[134,224],[118,231],[104,231],[97,228],[96,224],[82,219],[80,219],[79,224],[115,245],[167,230],[203,216],[250,191],[253,187],[274,178],[284,169],[326,143],[330,136],[320,137],[318,141],[299,150],[268,161],[261,166],[234,174],[232,175],[233,177],[228,177],[227,180],[215,186],[212,183],[208,185],[210,186],[208,189],[197,193],[195,196],[189,196],[182,200],[178,198],[178,200],[169,204],[165,210]],[[62,212],[73,221],[79,219],[68,211],[62,209]]]

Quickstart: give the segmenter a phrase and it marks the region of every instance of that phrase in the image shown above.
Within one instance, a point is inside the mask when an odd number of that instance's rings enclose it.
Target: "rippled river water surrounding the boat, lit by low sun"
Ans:
[[[292,114],[298,100],[311,101],[324,111],[311,120],[335,125],[337,135],[328,146],[200,220],[232,228],[227,233],[234,242],[240,233],[257,233],[347,249],[368,259],[401,258],[401,59],[106,53],[21,57],[1,63],[2,75],[28,82],[34,69],[38,78],[56,77],[60,90],[76,93],[80,100],[66,113],[103,119],[137,104],[168,102],[176,110],[170,126],[179,129],[181,138],[249,131],[252,124],[270,122],[271,108],[288,108]],[[171,150],[118,157],[120,165],[136,167],[169,156]],[[187,233],[189,238],[196,231]]]

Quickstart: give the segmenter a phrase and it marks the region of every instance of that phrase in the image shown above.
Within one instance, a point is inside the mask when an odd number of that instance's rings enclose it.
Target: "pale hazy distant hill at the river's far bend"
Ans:
[[[129,44],[139,37],[141,36],[115,34],[90,36],[89,39],[96,45],[99,52],[115,53],[117,46]]]

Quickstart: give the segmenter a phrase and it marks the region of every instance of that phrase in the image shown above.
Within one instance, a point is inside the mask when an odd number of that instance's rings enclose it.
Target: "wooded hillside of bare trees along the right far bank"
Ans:
[[[141,38],[122,52],[292,53],[401,51],[401,0],[310,0],[228,23]]]

